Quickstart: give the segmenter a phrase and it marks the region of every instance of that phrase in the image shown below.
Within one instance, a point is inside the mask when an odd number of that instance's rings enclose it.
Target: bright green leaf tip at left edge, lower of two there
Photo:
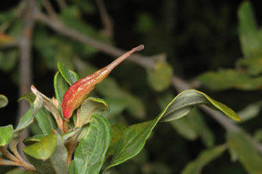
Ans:
[[[0,127],[0,146],[8,145],[14,136],[13,126]]]

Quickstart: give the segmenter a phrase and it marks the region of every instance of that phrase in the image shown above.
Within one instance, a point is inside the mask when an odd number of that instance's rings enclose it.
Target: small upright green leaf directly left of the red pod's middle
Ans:
[[[64,77],[62,77],[60,72],[57,72],[53,79],[53,86],[56,92],[56,99],[62,103],[62,98],[64,96],[64,92],[69,88],[69,84],[65,81]]]

